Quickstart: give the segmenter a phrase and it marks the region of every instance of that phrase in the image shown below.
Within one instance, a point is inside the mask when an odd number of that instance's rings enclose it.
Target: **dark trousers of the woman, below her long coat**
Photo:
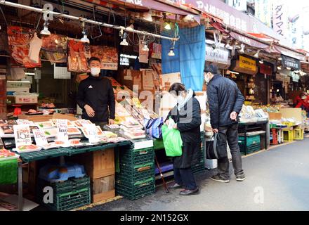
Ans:
[[[195,183],[195,176],[193,175],[191,167],[185,169],[175,168],[174,179],[177,184],[184,185],[188,190],[195,190],[197,184]]]

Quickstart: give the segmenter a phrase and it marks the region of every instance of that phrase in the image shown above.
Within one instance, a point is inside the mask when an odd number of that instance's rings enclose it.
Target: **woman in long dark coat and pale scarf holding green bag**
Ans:
[[[180,131],[183,140],[183,155],[173,158],[175,184],[169,188],[185,188],[180,191],[180,195],[192,195],[199,193],[191,167],[199,162],[201,151],[201,109],[195,92],[191,89],[185,90],[183,84],[173,84],[169,93],[177,98],[177,105],[169,112],[166,124],[169,124],[171,117],[176,123],[173,129]]]

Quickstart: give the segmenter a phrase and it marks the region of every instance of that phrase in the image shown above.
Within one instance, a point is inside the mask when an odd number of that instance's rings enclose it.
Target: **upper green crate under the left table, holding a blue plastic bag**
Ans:
[[[81,188],[88,188],[90,186],[90,179],[88,176],[83,178],[69,179],[63,182],[49,183],[43,179],[38,181],[39,191],[43,191],[44,187],[51,186],[53,188],[54,194],[68,193],[71,191],[76,191]]]

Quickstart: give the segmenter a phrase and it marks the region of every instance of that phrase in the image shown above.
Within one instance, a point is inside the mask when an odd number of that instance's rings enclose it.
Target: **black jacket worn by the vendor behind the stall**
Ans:
[[[79,84],[77,104],[83,109],[83,119],[91,122],[108,122],[108,119],[114,119],[115,101],[112,83],[103,75],[99,77],[89,75]],[[88,117],[85,105],[93,108],[95,117]]]

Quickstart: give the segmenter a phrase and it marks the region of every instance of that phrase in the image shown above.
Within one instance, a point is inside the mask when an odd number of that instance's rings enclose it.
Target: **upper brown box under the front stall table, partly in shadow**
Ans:
[[[72,161],[84,165],[86,174],[91,179],[98,179],[115,173],[114,148],[76,155],[72,157]]]

